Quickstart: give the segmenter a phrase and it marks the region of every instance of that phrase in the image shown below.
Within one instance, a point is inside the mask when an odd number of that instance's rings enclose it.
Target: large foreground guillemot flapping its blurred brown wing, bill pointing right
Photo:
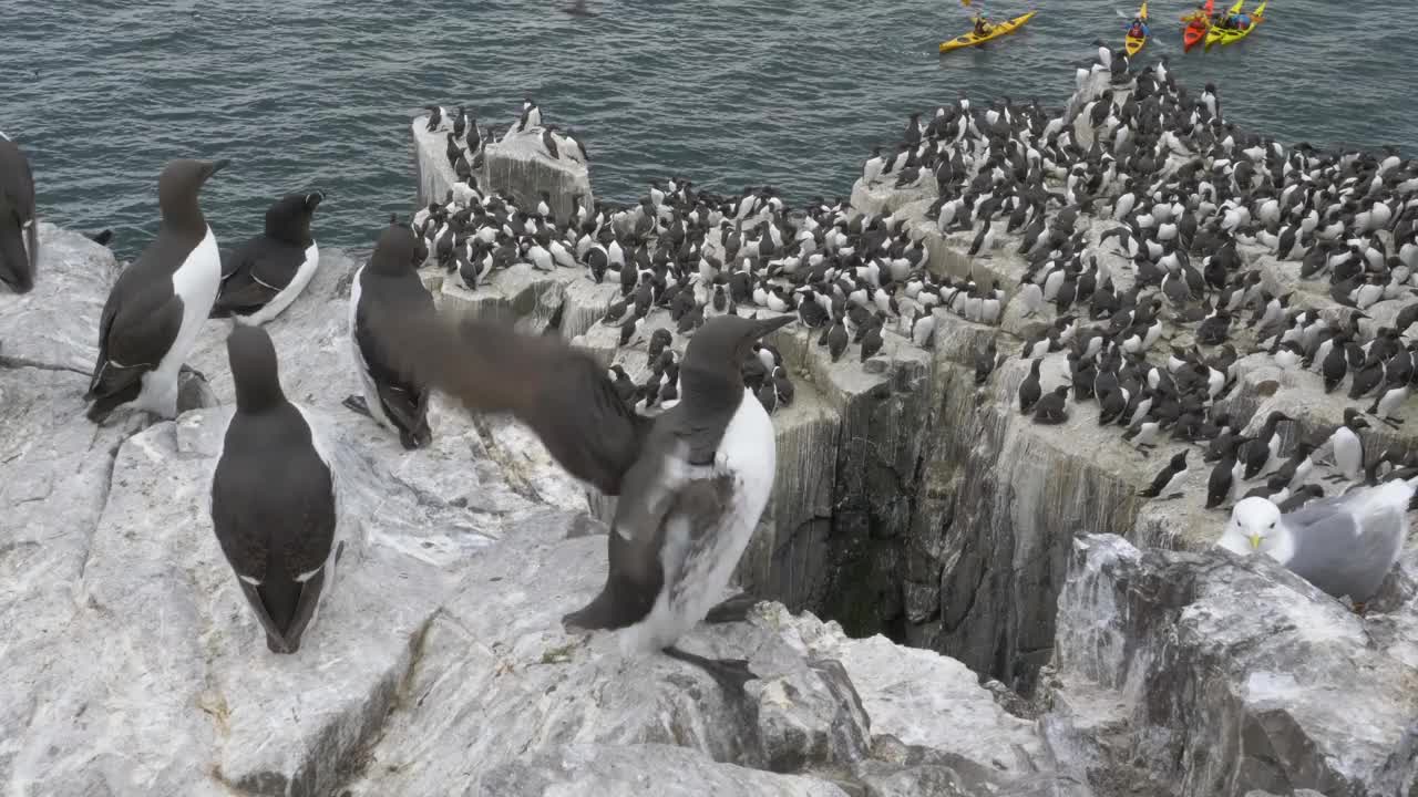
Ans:
[[[645,418],[615,394],[605,369],[559,338],[499,323],[438,322],[393,305],[370,315],[391,360],[474,411],[510,411],[573,476],[620,496],[601,593],[563,623],[620,630],[625,651],[662,650],[725,688],[753,678],[744,661],[706,659],[675,642],[710,614],[769,501],[773,424],[740,364],[764,335],[795,321],[715,316],[679,363],[679,403]],[[716,610],[743,615],[746,601]]]

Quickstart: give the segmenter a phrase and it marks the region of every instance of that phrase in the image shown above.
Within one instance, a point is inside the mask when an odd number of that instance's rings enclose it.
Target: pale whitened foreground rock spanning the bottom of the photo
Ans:
[[[354,546],[301,654],[274,657],[206,515],[231,400],[224,325],[193,359],[220,406],[95,428],[79,397],[118,265],[81,235],[41,234],[35,292],[0,296],[0,781],[13,794],[1414,788],[1412,554],[1360,620],[1265,560],[1069,540],[1056,662],[1034,708],[960,661],[776,603],[685,642],[747,657],[747,702],[693,668],[569,637],[557,618],[604,579],[584,491],[499,418],[437,404],[434,445],[404,452],[343,410],[356,262],[336,251],[268,329],[288,393],[335,441]],[[966,343],[942,346],[922,379],[953,379],[940,352]]]

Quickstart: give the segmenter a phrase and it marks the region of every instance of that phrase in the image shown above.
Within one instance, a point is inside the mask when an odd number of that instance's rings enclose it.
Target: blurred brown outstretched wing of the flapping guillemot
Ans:
[[[594,357],[556,336],[516,332],[501,319],[401,312],[397,302],[372,306],[367,321],[370,345],[390,367],[469,411],[510,413],[567,472],[620,495],[652,421],[620,400]]]

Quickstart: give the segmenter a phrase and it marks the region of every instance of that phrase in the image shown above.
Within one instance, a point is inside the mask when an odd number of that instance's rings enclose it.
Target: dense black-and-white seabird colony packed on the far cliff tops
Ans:
[[[1205,495],[1187,499],[1214,509],[1259,495],[1289,512],[1418,474],[1412,452],[1364,451],[1368,418],[1402,424],[1415,373],[1405,333],[1418,321],[1418,165],[1239,130],[1214,85],[1188,92],[1166,60],[1134,71],[1100,47],[1076,79],[1062,113],[963,96],[926,122],[912,113],[900,142],[865,162],[854,193],[865,207],[790,208],[773,187],[719,196],[672,177],[634,206],[579,196],[556,218],[546,197],[522,207],[478,186],[474,165],[495,132],[459,111],[448,160],[461,182],[413,227],[423,257],[469,291],[516,262],[618,284],[603,323],[620,326],[621,346],[668,311],[665,326],[651,325],[644,367],[623,356],[611,369],[640,411],[672,406],[676,345],[713,315],[793,312],[832,362],[865,363],[893,346],[930,347],[937,309],[981,325],[1014,313],[1020,356],[1034,360],[1020,411],[1061,424],[1096,404],[1099,424],[1143,455],[1174,448],[1141,496],[1177,498],[1193,445],[1211,471]],[[574,150],[584,162],[580,145],[539,122],[529,99],[506,136],[540,136],[546,157]],[[441,129],[437,116],[428,125]],[[964,252],[967,274],[937,275],[927,240]],[[1058,353],[1069,376],[1045,384],[1039,366]],[[1008,356],[991,339],[977,384]],[[1309,389],[1297,372],[1312,370],[1316,387],[1346,391],[1354,407],[1293,451],[1280,448],[1285,413],[1245,434],[1221,400],[1246,356],[1290,372],[1288,390]],[[791,401],[773,346],[743,373],[770,411]]]

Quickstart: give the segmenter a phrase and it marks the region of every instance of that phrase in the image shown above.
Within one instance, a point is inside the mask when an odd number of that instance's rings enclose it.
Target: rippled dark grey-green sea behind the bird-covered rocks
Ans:
[[[961,92],[1062,104],[1092,41],[1120,44],[1117,11],[1132,11],[1038,3],[1022,33],[942,57],[940,40],[968,27],[954,0],[588,0],[594,17],[566,1],[0,0],[0,130],[30,153],[41,214],[109,227],[123,255],[155,233],[156,176],[179,156],[233,160],[204,191],[224,244],[259,231],[272,197],[319,187],[320,244],[363,250],[411,210],[408,121],[428,102],[505,125],[532,95],[543,119],[577,129],[603,199],[672,173],[845,196],[910,111]],[[1214,81],[1232,122],[1418,153],[1418,17],[1358,38],[1357,6],[1275,0],[1249,40],[1183,55],[1187,7],[1150,6],[1139,58]]]

